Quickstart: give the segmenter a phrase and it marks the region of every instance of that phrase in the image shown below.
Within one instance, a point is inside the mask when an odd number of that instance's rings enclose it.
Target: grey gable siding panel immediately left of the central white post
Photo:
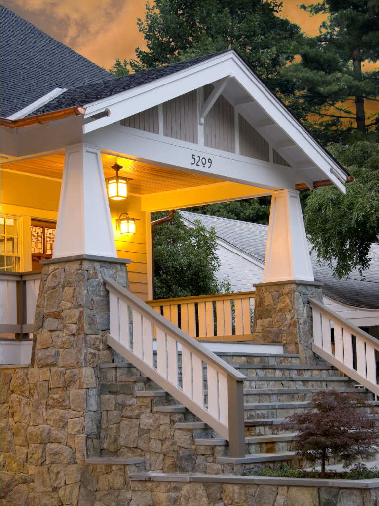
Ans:
[[[198,143],[196,90],[163,104],[163,135],[180,141]]]

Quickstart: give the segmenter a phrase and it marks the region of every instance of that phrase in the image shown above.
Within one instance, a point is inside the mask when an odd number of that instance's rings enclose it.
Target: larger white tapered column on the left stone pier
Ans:
[[[100,149],[80,143],[65,151],[53,258],[117,258]]]

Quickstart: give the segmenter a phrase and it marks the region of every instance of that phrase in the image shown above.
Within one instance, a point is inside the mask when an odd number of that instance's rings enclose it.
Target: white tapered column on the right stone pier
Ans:
[[[263,282],[314,281],[299,192],[272,192]]]

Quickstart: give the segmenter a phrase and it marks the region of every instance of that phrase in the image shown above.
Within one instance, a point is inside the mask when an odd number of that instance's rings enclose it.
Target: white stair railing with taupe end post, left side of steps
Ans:
[[[112,279],[105,279],[105,283],[110,306],[108,345],[227,439],[231,457],[245,456],[243,382],[246,376],[119,283]],[[208,405],[204,402],[204,367]]]

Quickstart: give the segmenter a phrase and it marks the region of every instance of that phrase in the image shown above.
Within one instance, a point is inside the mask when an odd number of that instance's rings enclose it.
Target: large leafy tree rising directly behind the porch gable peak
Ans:
[[[156,0],[146,4],[138,19],[147,51],[136,49],[136,59],[118,60],[115,75],[134,72],[197,56],[235,49],[272,87],[278,69],[294,60],[300,28],[279,18],[276,0]]]

